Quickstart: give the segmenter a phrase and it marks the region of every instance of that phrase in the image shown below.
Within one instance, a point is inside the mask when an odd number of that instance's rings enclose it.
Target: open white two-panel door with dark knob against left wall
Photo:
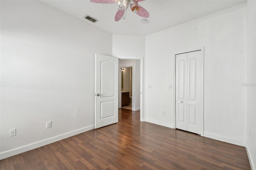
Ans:
[[[95,54],[95,128],[118,122],[118,58]]]

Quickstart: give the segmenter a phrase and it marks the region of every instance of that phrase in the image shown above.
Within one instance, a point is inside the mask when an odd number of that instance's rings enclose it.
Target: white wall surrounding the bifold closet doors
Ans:
[[[205,47],[204,135],[244,146],[246,3],[146,36],[146,121],[173,127],[173,54],[198,47]]]

